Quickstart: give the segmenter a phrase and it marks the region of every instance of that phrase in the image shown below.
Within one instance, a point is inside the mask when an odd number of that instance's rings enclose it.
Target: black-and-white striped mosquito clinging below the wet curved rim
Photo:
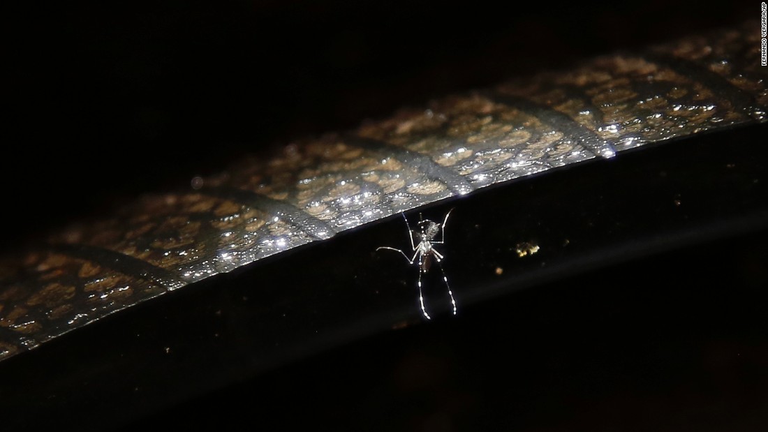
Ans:
[[[448,278],[445,276],[445,270],[442,269],[443,256],[440,252],[435,250],[434,247],[435,245],[442,245],[445,243],[445,224],[448,223],[448,216],[451,216],[452,211],[453,209],[450,209],[448,213],[445,213],[445,219],[443,219],[442,225],[432,222],[429,219],[422,219],[422,215],[419,213],[420,220],[418,230],[411,229],[411,225],[408,223],[408,218],[406,218],[406,213],[401,213],[402,219],[405,219],[406,221],[406,226],[408,227],[408,236],[411,239],[411,248],[414,252],[412,258],[408,258],[406,252],[402,252],[400,249],[391,248],[389,246],[381,246],[376,248],[377,252],[381,249],[389,249],[395,252],[400,252],[400,254],[406,258],[409,264],[416,262],[416,259],[419,260],[419,305],[422,306],[422,313],[427,319],[432,318],[429,317],[429,314],[424,307],[424,295],[422,295],[422,275],[426,272],[429,272],[429,267],[432,266],[433,258],[437,262],[437,265],[440,267],[440,272],[442,272],[442,280],[445,281],[445,288],[448,289],[448,295],[451,296],[453,315],[456,315],[456,301],[453,298],[451,287],[448,285]],[[438,233],[440,233],[440,241],[435,241],[435,236],[437,236]]]

